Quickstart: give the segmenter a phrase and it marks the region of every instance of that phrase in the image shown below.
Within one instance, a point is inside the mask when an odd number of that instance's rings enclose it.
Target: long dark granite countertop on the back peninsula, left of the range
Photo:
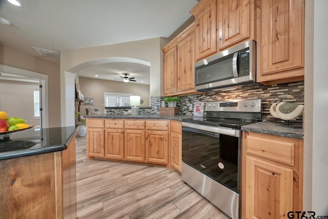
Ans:
[[[86,115],[85,118],[139,118],[145,120],[175,120],[182,121],[183,118],[193,118],[199,116],[193,115],[157,115],[157,114],[139,114],[139,115],[125,115],[125,114],[104,114],[104,115]]]

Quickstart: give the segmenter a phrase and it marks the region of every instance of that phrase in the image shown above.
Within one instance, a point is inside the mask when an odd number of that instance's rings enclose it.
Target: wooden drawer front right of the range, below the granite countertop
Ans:
[[[246,152],[294,166],[294,143],[247,136]]]

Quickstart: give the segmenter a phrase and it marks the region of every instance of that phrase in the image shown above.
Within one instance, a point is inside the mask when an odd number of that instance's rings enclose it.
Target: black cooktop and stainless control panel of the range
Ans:
[[[240,129],[243,125],[262,121],[261,99],[208,102],[205,106],[207,116],[187,118],[182,122]]]

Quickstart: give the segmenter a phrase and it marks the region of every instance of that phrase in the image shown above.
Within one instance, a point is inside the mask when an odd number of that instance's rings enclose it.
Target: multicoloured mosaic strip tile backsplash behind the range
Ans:
[[[278,85],[252,85],[238,86],[236,90],[209,91],[204,94],[180,96],[177,106],[180,107],[181,115],[192,115],[194,103],[209,101],[229,101],[232,99],[262,99],[263,120],[277,120],[270,114],[271,104],[281,100],[283,102],[304,104],[304,81]],[[161,98],[163,99],[163,98]],[[157,112],[156,112],[157,114]],[[296,122],[302,122],[302,115],[298,116]]]

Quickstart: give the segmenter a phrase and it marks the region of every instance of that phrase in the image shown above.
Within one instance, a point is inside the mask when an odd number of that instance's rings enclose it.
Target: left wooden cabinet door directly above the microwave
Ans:
[[[216,0],[202,0],[190,13],[195,16],[195,55],[198,61],[217,51]]]

